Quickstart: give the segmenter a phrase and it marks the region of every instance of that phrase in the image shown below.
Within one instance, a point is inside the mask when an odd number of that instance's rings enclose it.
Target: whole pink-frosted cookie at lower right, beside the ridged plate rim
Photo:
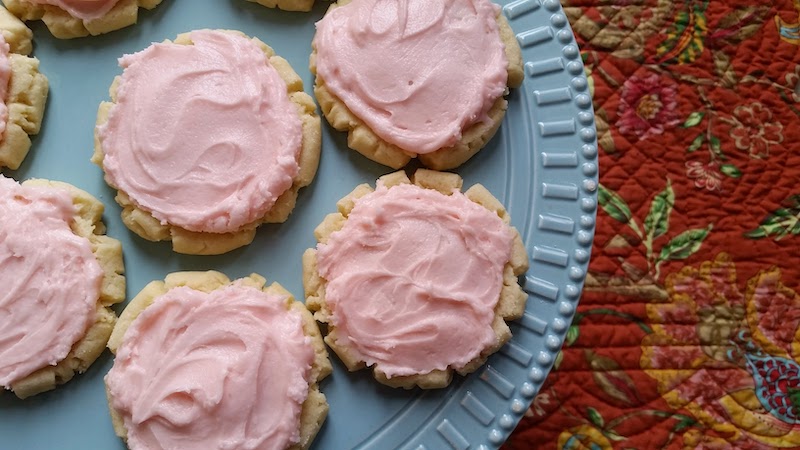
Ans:
[[[306,305],[349,370],[393,387],[439,388],[510,337],[528,258],[500,202],[456,174],[418,170],[358,186],[303,255]]]

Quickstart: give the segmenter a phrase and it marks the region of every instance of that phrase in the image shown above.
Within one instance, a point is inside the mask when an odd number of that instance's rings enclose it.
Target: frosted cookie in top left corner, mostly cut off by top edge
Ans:
[[[3,0],[22,20],[41,20],[59,39],[96,36],[136,23],[139,8],[161,0]]]

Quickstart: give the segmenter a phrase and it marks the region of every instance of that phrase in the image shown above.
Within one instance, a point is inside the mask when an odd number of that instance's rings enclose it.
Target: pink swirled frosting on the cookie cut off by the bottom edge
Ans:
[[[132,450],[284,450],[299,441],[313,361],[285,297],[178,287],[133,321],[106,384]]]

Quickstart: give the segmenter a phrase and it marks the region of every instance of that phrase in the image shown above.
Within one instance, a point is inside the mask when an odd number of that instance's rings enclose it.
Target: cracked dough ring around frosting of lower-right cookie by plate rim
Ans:
[[[445,195],[452,194],[455,190],[461,190],[463,179],[454,173],[438,172],[428,169],[418,169],[411,178],[404,171],[397,171],[384,175],[378,182],[388,188],[402,184],[415,184],[425,189],[433,189]],[[369,193],[373,189],[368,184],[357,186],[352,192],[337,202],[338,212],[328,214],[319,226],[314,230],[314,236],[320,243],[325,243],[331,234],[344,227],[347,216],[355,206],[355,202]],[[485,187],[476,184],[468,189],[464,195],[471,201],[481,205],[487,210],[497,214],[506,224],[510,223],[510,216],[502,203],[497,200]],[[519,286],[517,277],[528,270],[528,255],[522,237],[514,227],[509,227],[513,233],[512,251],[509,261],[503,270],[503,287],[501,288],[497,305],[495,306],[495,318],[492,323],[492,330],[496,336],[495,343],[485,349],[481,354],[463,368],[458,369],[458,373],[466,375],[477,370],[482,366],[486,359],[497,352],[510,338],[511,330],[506,321],[516,320],[522,317],[525,311],[525,303],[528,296]],[[326,280],[319,274],[317,267],[316,249],[308,249],[303,254],[303,288],[306,296],[306,306],[314,312],[314,317],[328,325],[328,334],[325,342],[336,353],[339,359],[345,364],[348,370],[355,371],[366,367],[364,361],[353,355],[346,346],[339,345],[337,342],[336,328],[329,323],[332,311],[325,301]],[[413,376],[387,377],[381,372],[379,367],[373,368],[375,379],[387,386],[412,389],[420,387],[422,389],[436,389],[446,387],[452,381],[453,369],[434,370],[427,374]]]

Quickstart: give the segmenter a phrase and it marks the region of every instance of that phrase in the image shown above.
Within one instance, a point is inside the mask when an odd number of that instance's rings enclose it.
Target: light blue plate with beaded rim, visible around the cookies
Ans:
[[[50,79],[41,134],[18,180],[66,181],[106,204],[108,234],[125,252],[129,297],[151,280],[177,270],[216,269],[231,278],[258,272],[302,295],[302,252],[312,230],[336,201],[360,183],[390,170],[347,149],[345,136],[323,120],[322,160],[314,183],[282,225],[258,230],[252,245],[219,257],[173,253],[121,223],[114,193],[89,162],[97,105],[119,74],[117,57],[153,41],[198,28],[238,29],[285,57],[312,93],[308,55],[311,13],[274,11],[244,0],[168,0],[140,15],[139,24],[109,35],[59,41],[41,23],[32,27],[34,54]],[[322,384],[330,414],[314,449],[490,449],[513,430],[536,395],[561,347],[583,284],[594,231],[597,147],[592,103],[578,48],[557,0],[499,1],[522,45],[526,80],[509,97],[506,119],[492,142],[457,170],[465,185],[484,184],[508,208],[531,257],[525,279],[525,317],[514,338],[486,366],[438,391],[404,391],[376,383],[366,371],[348,373],[338,360]],[[104,354],[83,375],[53,392],[20,401],[0,394],[1,450],[123,449],[108,417]]]

